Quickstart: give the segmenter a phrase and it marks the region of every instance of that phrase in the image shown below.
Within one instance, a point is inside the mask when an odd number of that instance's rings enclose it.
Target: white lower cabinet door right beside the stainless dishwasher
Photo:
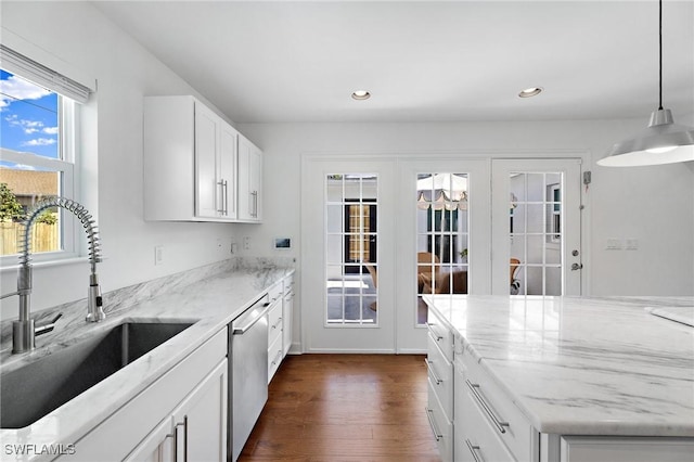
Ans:
[[[227,460],[227,360],[172,413],[175,460]]]

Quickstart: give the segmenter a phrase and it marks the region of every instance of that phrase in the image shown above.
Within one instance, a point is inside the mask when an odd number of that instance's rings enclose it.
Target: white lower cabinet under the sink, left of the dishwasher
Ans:
[[[226,461],[227,373],[223,329],[59,460]]]

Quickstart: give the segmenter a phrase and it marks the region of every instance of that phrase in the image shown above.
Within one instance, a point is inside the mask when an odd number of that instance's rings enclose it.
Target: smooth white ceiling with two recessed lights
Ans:
[[[655,0],[94,5],[235,123],[645,124],[658,105]],[[694,1],[663,10],[664,106],[677,121],[694,113]],[[372,98],[352,100],[360,89]]]

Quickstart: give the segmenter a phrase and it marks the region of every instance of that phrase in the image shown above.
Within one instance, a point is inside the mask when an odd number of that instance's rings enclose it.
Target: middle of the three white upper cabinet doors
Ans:
[[[219,139],[219,181],[217,202],[220,215],[236,218],[236,145],[239,132],[223,124]]]

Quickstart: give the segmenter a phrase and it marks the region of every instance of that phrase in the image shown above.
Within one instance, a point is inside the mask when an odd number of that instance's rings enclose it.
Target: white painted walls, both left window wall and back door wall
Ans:
[[[266,224],[150,223],[142,219],[142,98],[194,94],[185,81],[86,2],[2,2],[2,27],[99,81],[87,113],[94,132],[89,170],[98,176],[99,228],[106,261],[99,272],[111,291],[229,257],[227,243],[253,238],[245,254],[298,257],[300,154],[304,152],[464,152],[553,149],[594,152],[635,130],[644,120],[466,124],[271,124],[237,128],[265,150]],[[94,110],[98,108],[98,119]],[[650,110],[646,110],[650,111]],[[680,123],[692,124],[679,118]],[[584,167],[587,168],[587,167]],[[692,294],[694,287],[694,171],[685,165],[606,169],[594,165],[587,200],[584,238],[589,287],[603,294]],[[98,201],[94,200],[98,197]],[[293,238],[291,251],[273,251],[275,236]],[[608,238],[634,238],[639,251],[605,251]],[[222,247],[218,247],[221,240]],[[165,261],[154,266],[154,246]],[[242,253],[243,254],[243,253]],[[83,298],[87,264],[36,268],[35,309]],[[2,293],[15,288],[2,271]],[[16,301],[3,300],[3,317]]]

